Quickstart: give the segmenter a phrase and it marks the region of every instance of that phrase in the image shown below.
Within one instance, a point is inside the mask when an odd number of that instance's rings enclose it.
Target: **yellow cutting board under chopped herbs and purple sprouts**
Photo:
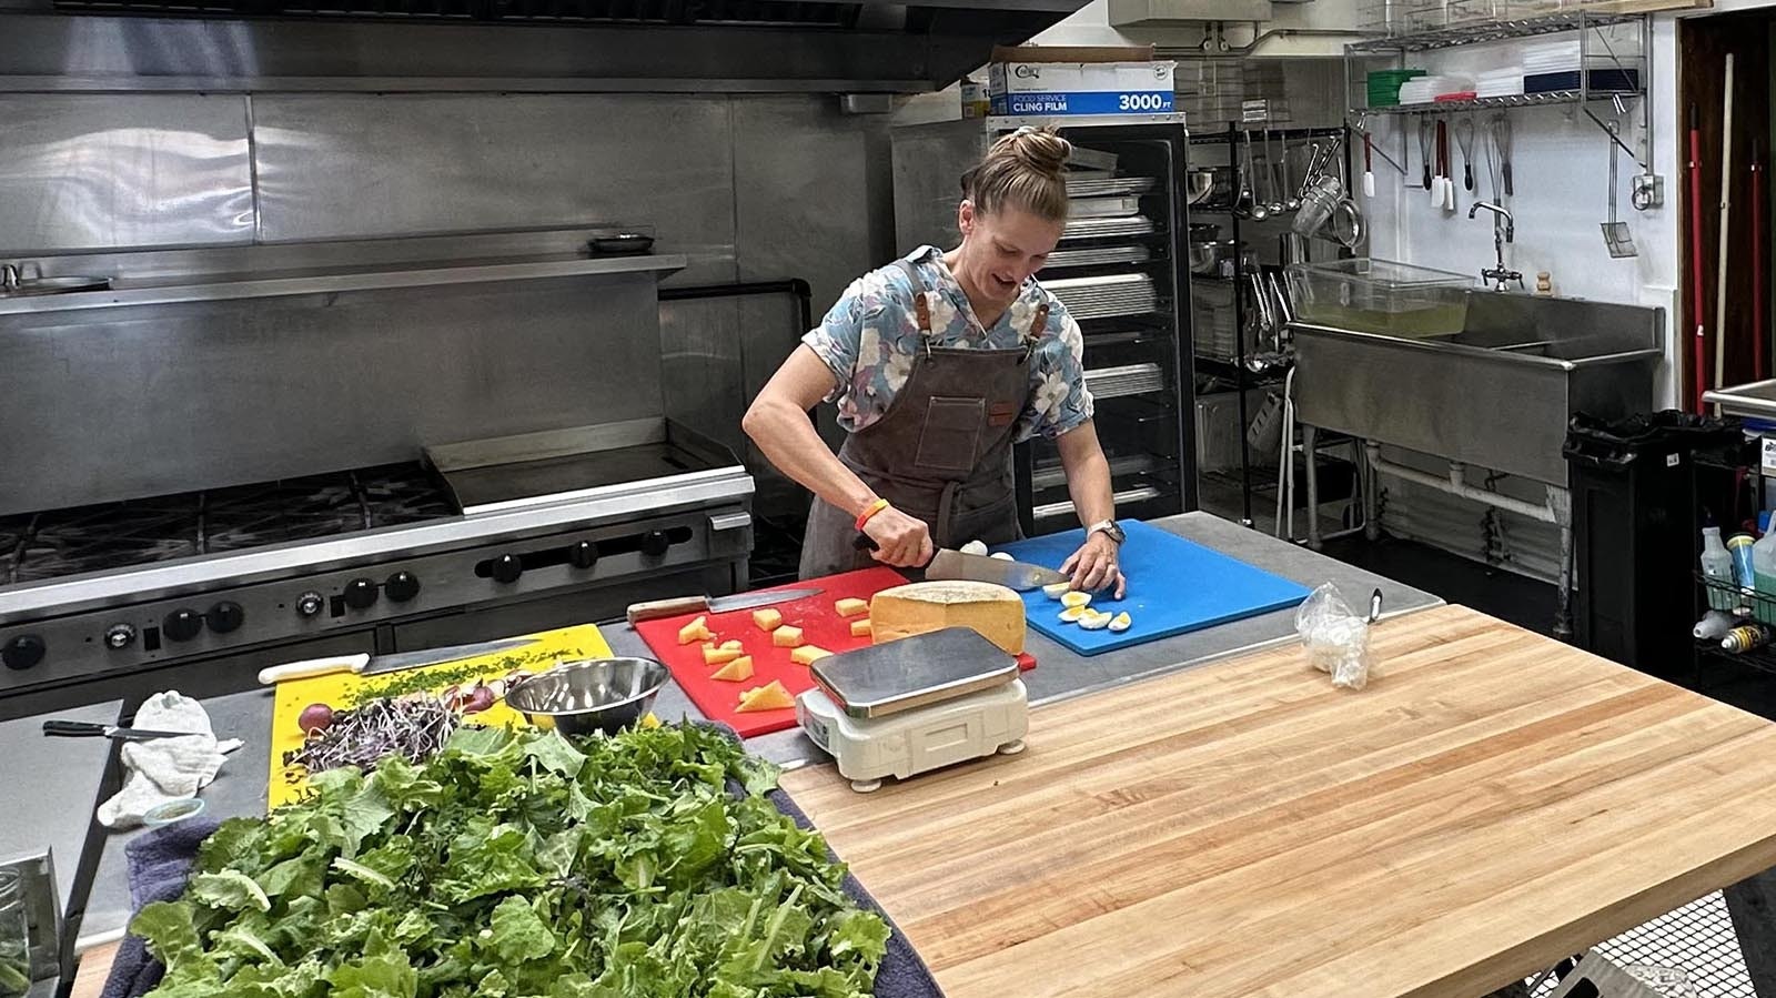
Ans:
[[[311,703],[325,703],[337,712],[382,696],[416,691],[442,693],[464,682],[472,685],[476,680],[503,678],[513,669],[540,673],[559,662],[611,655],[604,634],[591,623],[540,630],[511,641],[522,639],[531,643],[522,648],[497,648],[485,655],[469,655],[396,673],[371,677],[330,673],[277,684],[272,707],[270,806],[277,808],[298,801],[307,792],[307,771],[302,765],[286,765],[284,758],[302,748],[304,733],[297,721]],[[490,645],[497,646],[499,641],[490,641]],[[494,701],[494,707],[472,714],[471,719],[474,725],[490,728],[524,725],[524,716],[506,707],[504,700]]]

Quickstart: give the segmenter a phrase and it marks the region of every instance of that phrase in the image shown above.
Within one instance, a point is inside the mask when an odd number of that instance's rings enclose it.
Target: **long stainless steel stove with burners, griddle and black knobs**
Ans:
[[[666,419],[0,519],[0,719],[744,588],[753,481]]]

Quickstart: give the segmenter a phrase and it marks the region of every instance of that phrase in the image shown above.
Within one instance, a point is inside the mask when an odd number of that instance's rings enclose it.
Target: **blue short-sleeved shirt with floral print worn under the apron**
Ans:
[[[1051,440],[1092,417],[1092,394],[1085,387],[1082,360],[1085,337],[1058,298],[1030,279],[993,329],[980,329],[980,320],[943,263],[941,250],[920,247],[906,259],[918,268],[925,284],[934,346],[1021,346],[1037,307],[1048,304],[1048,325],[1030,357],[1030,398],[1018,417],[1016,440],[1035,435]],[[831,368],[838,382],[826,396],[826,401],[838,405],[838,424],[856,433],[876,423],[906,384],[920,350],[911,281],[897,265],[852,281],[803,343]]]

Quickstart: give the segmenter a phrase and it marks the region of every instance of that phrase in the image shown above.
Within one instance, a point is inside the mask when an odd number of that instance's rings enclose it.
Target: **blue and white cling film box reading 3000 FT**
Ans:
[[[1169,114],[1174,67],[1151,48],[996,48],[987,99],[995,115]]]

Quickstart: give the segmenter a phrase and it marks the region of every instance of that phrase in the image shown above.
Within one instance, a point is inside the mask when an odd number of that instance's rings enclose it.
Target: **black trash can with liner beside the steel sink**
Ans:
[[[1732,465],[1744,446],[1739,423],[1730,419],[1684,412],[1572,417],[1563,453],[1577,582],[1574,639],[1581,648],[1668,680],[1691,673],[1701,559],[1698,495],[1732,504]],[[1735,515],[1719,506],[1710,513],[1717,520]],[[1732,535],[1737,520],[1717,526]]]

